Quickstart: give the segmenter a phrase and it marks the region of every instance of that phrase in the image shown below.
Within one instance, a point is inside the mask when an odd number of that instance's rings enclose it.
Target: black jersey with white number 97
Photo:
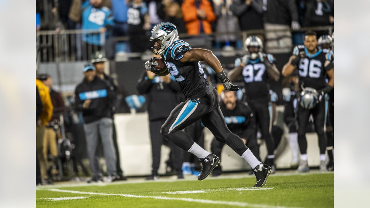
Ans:
[[[275,57],[271,54],[263,54],[270,63],[275,64]],[[242,71],[245,94],[247,99],[264,98],[269,100],[268,73],[266,66],[260,58],[255,60],[247,59],[247,55],[242,57],[244,68]],[[248,61],[247,61],[248,60]]]

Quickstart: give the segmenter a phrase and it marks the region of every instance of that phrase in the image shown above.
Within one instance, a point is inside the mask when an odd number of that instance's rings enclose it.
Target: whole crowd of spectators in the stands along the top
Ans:
[[[106,38],[129,36],[117,51],[144,52],[151,28],[162,21],[189,35],[265,29],[269,53],[286,53],[293,35],[289,29],[334,24],[333,0],[48,0],[36,1],[37,30],[95,29]],[[279,31],[276,31],[279,30]],[[324,32],[325,33],[325,32]],[[323,33],[318,33],[322,35]],[[253,35],[253,33],[249,33]],[[84,37],[88,47],[100,50],[100,35]],[[132,47],[135,46],[135,47]],[[216,36],[216,48],[241,47],[235,34]]]

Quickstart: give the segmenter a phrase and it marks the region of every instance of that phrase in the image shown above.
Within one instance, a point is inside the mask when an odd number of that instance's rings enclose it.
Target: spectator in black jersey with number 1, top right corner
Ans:
[[[333,0],[306,1],[305,8],[305,27],[334,25]],[[328,31],[320,31],[317,33],[317,37],[320,37],[324,34],[328,34]]]

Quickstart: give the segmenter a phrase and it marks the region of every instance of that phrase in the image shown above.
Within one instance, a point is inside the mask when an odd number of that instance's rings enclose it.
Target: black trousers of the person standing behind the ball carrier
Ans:
[[[149,121],[150,140],[152,142],[152,174],[158,175],[159,162],[161,161],[161,146],[165,142],[165,138],[160,132],[161,126],[165,122],[164,119]],[[183,150],[177,147],[174,143],[168,142],[171,148],[172,167],[176,172],[181,172],[183,161]]]

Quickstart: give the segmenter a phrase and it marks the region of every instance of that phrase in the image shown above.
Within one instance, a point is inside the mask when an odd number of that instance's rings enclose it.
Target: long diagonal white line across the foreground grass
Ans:
[[[283,206],[272,206],[272,205],[265,205],[265,204],[250,204],[250,203],[247,203],[247,202],[237,202],[237,201],[213,201],[213,200],[208,200],[208,199],[171,198],[171,197],[161,197],[161,196],[141,196],[141,195],[133,195],[133,194],[106,194],[106,193],[97,193],[97,192],[83,192],[83,191],[63,190],[63,189],[56,189],[56,188],[51,188],[51,189],[46,189],[46,190],[55,191],[55,192],[73,193],[73,194],[122,196],[122,197],[131,197],[131,198],[152,198],[152,199],[163,199],[163,200],[198,202],[198,203],[202,203],[202,204],[223,204],[223,205],[231,205],[231,206],[238,206],[238,207],[287,208],[287,207],[283,207]]]

